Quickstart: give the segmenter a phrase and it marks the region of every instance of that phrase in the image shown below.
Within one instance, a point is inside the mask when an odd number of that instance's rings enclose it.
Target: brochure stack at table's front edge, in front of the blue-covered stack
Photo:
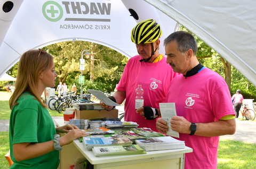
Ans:
[[[146,154],[146,152],[140,148],[137,144],[130,146],[100,146],[93,147],[92,152],[94,156],[113,156],[113,155],[137,155],[137,154]]]

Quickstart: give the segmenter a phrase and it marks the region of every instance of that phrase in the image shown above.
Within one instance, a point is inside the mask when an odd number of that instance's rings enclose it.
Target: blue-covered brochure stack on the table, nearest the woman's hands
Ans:
[[[124,135],[108,136],[103,138],[84,136],[83,144],[87,150],[92,150],[94,146],[130,146],[132,145],[132,141]]]

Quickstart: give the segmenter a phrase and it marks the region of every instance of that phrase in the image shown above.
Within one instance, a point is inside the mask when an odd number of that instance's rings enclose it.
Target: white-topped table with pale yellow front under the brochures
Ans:
[[[63,119],[54,119],[54,121],[57,126],[64,125]],[[78,139],[62,148],[59,169],[69,169],[69,166],[75,164],[77,158],[86,158],[94,165],[94,169],[182,169],[184,168],[185,153],[193,151],[193,149],[185,147],[184,149],[147,151],[147,154],[141,155],[95,157],[93,152],[87,151]]]

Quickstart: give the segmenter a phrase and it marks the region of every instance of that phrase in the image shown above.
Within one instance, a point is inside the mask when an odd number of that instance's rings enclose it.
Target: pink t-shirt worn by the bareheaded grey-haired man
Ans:
[[[210,123],[235,115],[225,80],[204,68],[194,76],[179,75],[170,84],[167,102],[174,102],[178,116],[191,123]],[[213,128],[214,130],[214,128]],[[205,137],[180,133],[179,140],[193,152],[185,155],[185,168],[217,168],[219,136]]]

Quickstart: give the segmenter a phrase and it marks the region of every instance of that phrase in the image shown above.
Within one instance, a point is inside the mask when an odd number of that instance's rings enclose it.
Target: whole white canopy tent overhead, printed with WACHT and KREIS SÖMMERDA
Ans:
[[[0,11],[0,77],[19,60],[23,52],[73,39],[106,45],[130,58],[137,54],[130,41],[132,27],[138,21],[153,18],[164,30],[161,41],[175,30],[174,19],[209,44],[256,86],[256,57],[253,47],[256,44],[255,1],[83,0],[54,1],[54,4],[50,4],[53,1],[46,0],[12,2],[15,4],[12,11]],[[0,2],[0,5],[3,4],[4,2]],[[103,4],[106,5],[105,8]],[[111,4],[111,10],[108,4]],[[42,12],[51,10],[50,6],[55,7],[52,15],[57,14],[54,13],[56,9],[59,9],[59,14],[62,9],[63,15],[54,18]],[[130,17],[126,8],[133,9],[139,19]],[[78,29],[79,26],[84,28]]]

